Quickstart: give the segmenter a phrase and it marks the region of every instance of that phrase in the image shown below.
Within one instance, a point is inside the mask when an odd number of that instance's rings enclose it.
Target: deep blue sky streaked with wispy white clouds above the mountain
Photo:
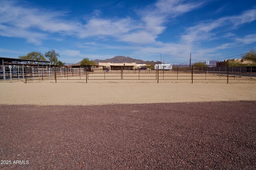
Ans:
[[[66,63],[231,57],[256,50],[256,1],[0,0],[0,57],[51,49]]]

